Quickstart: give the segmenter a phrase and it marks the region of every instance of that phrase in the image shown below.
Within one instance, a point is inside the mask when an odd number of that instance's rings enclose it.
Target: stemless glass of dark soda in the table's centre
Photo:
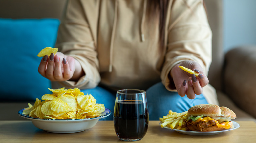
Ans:
[[[146,92],[138,89],[118,90],[114,108],[114,127],[124,141],[141,140],[148,129]]]

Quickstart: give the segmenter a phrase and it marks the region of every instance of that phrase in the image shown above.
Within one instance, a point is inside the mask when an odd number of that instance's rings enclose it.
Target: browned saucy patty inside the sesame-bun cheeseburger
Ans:
[[[193,122],[192,120],[189,120],[186,123],[187,128],[192,131],[193,130],[202,131],[203,128],[207,128],[207,127],[214,126],[214,125],[216,125],[214,120],[209,120],[207,122],[204,122],[204,121]]]

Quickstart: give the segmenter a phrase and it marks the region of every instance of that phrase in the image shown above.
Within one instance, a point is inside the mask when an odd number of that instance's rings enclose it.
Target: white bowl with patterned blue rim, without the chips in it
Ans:
[[[111,114],[111,111],[105,108],[101,116],[85,119],[39,119],[22,114],[24,109],[21,109],[18,114],[23,118],[30,119],[35,127],[52,133],[76,133],[86,129],[90,129],[96,125],[101,118],[105,118]]]

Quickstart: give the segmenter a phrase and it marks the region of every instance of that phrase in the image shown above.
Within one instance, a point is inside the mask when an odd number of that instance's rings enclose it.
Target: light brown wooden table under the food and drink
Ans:
[[[253,121],[237,121],[238,129],[217,135],[185,135],[173,130],[161,128],[160,121],[149,121],[147,134],[143,142],[168,143],[256,143],[256,123]],[[31,121],[0,121],[0,143],[90,143],[90,142],[124,142],[118,139],[113,121],[99,121],[93,128],[83,132],[58,134],[49,133],[36,128]]]

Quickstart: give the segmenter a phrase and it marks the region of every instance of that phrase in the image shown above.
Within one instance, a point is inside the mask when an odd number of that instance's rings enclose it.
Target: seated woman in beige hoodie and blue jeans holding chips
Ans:
[[[38,71],[59,87],[86,89],[112,111],[118,89],[146,90],[150,120],[158,120],[169,110],[218,104],[207,78],[211,36],[202,0],[71,0],[61,52],[43,57]]]

